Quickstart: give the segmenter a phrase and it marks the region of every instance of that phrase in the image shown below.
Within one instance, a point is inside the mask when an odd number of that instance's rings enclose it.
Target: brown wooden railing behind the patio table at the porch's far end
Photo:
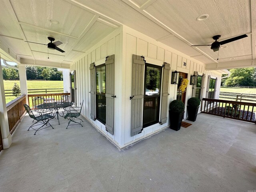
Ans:
[[[43,97],[45,102],[70,102],[70,93],[47,93],[47,94],[28,94],[28,105],[34,109],[34,103],[32,102],[35,97]],[[36,105],[43,103],[38,101]]]

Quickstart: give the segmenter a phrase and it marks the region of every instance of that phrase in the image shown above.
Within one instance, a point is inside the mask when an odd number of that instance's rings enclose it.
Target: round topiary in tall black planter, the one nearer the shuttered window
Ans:
[[[169,106],[170,114],[170,128],[178,131],[180,130],[183,114],[184,114],[184,103],[180,100],[173,100]]]

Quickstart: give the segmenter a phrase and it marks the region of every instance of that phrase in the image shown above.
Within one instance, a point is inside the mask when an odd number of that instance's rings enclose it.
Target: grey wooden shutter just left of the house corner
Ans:
[[[106,58],[106,131],[114,135],[114,74],[115,55]]]

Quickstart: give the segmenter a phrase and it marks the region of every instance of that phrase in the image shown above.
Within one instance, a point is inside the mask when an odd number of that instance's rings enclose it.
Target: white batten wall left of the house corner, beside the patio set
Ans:
[[[122,27],[118,28],[106,38],[98,42],[95,46],[86,51],[82,57],[78,58],[71,65],[70,70],[76,70],[76,100],[77,105],[84,100],[82,115],[89,120],[102,134],[109,140],[121,147],[121,108],[122,108]],[[96,66],[104,64],[106,56],[115,55],[115,95],[114,100],[114,135],[106,131],[104,124],[98,120],[94,121],[90,118],[90,64],[95,63]]]

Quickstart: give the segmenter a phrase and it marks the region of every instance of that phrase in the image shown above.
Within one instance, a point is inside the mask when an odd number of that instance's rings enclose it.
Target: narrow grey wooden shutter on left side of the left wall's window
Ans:
[[[96,120],[96,110],[95,110],[95,64],[90,64],[90,81],[91,81],[91,119]]]

